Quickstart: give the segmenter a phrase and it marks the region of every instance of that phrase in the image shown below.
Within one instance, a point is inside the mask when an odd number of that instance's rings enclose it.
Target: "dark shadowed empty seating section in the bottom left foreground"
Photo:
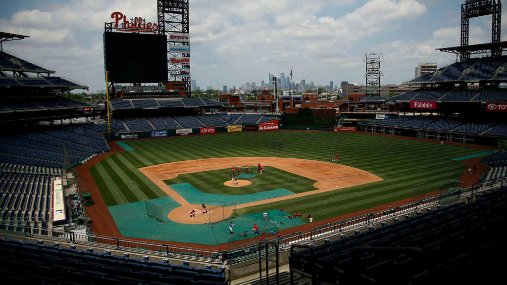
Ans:
[[[223,268],[196,268],[67,247],[0,239],[6,283],[213,284],[227,285]],[[61,261],[61,263],[55,261]],[[48,270],[51,274],[48,274]]]

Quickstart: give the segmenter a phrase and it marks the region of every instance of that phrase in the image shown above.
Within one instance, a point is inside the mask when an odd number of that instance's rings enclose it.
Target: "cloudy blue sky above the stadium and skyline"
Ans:
[[[435,49],[460,45],[463,3],[189,0],[191,78],[201,89],[246,82],[259,86],[269,72],[287,76],[292,69],[298,83],[365,84],[364,54],[382,53],[381,84],[401,84],[414,78],[418,62],[440,67],[456,60]],[[1,1],[0,31],[30,36],[4,43],[4,51],[85,84],[91,92],[103,90],[104,22],[112,22],[117,11],[157,21],[156,0]],[[469,44],[489,42],[491,15],[471,19]]]

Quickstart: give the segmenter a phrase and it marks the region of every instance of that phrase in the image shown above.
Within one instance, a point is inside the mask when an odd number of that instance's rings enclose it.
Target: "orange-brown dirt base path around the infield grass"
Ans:
[[[148,166],[140,168],[139,170],[153,181],[153,183],[158,185],[165,193],[167,193],[167,195],[182,205],[169,213],[168,218],[170,220],[177,221],[179,223],[201,224],[207,222],[204,221],[204,217],[201,219],[195,219],[195,217],[191,218],[188,214],[188,211],[195,206],[191,205],[176,191],[165,185],[163,181],[173,179],[179,174],[184,173],[229,169],[229,166],[231,165],[257,165],[258,163],[261,163],[264,167],[272,166],[316,180],[317,182],[313,186],[317,188],[317,190],[240,204],[238,205],[238,208],[245,208],[382,181],[382,179],[375,174],[343,164],[279,157],[228,157],[188,160]]]

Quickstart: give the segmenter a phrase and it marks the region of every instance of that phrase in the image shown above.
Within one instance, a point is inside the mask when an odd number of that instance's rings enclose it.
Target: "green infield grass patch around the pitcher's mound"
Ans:
[[[265,167],[263,174],[257,173],[257,167],[255,170],[251,167],[250,172],[255,171],[257,174],[250,185],[228,187],[224,185],[224,182],[230,179],[229,170],[227,168],[180,174],[174,179],[164,180],[164,183],[171,185],[188,182],[203,193],[228,195],[246,195],[280,188],[285,188],[294,193],[317,189],[313,187],[313,184],[317,182],[315,180],[270,166]]]

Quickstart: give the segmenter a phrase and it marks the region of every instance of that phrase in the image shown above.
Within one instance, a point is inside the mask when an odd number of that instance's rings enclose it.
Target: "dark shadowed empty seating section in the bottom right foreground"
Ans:
[[[435,278],[476,284],[485,274],[501,278],[502,266],[492,257],[504,253],[507,235],[497,226],[507,216],[506,205],[507,191],[482,193],[474,202],[293,252],[289,264],[291,270],[315,273],[316,284],[427,284]],[[471,268],[481,274],[470,274]]]

